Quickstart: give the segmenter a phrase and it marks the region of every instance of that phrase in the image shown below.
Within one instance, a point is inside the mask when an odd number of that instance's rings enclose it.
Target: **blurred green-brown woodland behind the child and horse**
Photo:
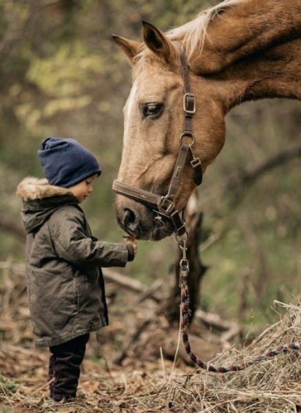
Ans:
[[[131,69],[110,34],[140,40],[142,20],[167,30],[212,4],[0,0],[0,262],[24,260],[15,189],[25,176],[42,177],[36,153],[47,136],[76,138],[96,155],[103,175],[83,208],[94,235],[121,241],[111,187],[121,159]],[[250,330],[273,321],[273,299],[289,302],[300,293],[300,126],[297,101],[234,108],[225,148],[199,190],[200,254],[209,266],[200,307]],[[262,165],[267,169],[260,172]],[[244,179],[256,170],[253,179]],[[172,239],[138,242],[138,256],[124,273],[147,285],[164,279],[168,291],[175,255]]]

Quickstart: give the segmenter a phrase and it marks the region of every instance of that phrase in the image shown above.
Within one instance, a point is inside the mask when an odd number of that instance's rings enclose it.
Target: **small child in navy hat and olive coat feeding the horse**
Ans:
[[[73,139],[47,138],[38,151],[45,178],[25,178],[21,218],[27,233],[26,282],[37,347],[49,347],[50,397],[76,397],[89,333],[108,325],[101,266],[134,260],[136,242],[100,242],[79,204],[101,174]]]

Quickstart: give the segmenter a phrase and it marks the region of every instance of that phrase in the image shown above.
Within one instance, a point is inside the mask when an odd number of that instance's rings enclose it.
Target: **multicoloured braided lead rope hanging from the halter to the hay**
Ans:
[[[272,357],[278,356],[280,353],[289,352],[291,350],[300,350],[301,342],[299,343],[289,343],[289,344],[280,344],[276,348],[269,349],[264,354],[244,361],[240,364],[231,364],[229,366],[214,366],[214,364],[205,363],[205,361],[198,358],[198,356],[191,350],[189,344],[188,328],[189,328],[189,293],[188,293],[188,274],[189,274],[189,262],[187,260],[186,246],[187,240],[178,240],[178,246],[182,251],[182,259],[180,260],[180,310],[182,313],[182,321],[180,325],[180,331],[183,339],[183,344],[185,350],[189,356],[189,359],[195,364],[204,370],[214,373],[229,373],[237,372],[239,370],[245,370],[246,368],[253,366],[253,364],[260,363],[260,361],[269,360]]]

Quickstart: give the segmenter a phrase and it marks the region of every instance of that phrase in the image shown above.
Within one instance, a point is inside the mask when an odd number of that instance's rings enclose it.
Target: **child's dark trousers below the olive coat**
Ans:
[[[89,334],[75,337],[58,346],[51,346],[49,359],[50,397],[60,401],[65,397],[68,401],[76,397],[79,384],[80,366],[85,355],[85,345]]]

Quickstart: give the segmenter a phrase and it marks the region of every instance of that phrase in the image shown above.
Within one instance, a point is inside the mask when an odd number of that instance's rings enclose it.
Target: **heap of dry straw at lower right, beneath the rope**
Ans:
[[[262,354],[278,343],[300,341],[300,321],[301,307],[287,306],[280,322],[267,329],[249,348],[232,349],[216,357],[214,363],[236,363]],[[297,412],[297,406],[301,407],[300,355],[300,352],[282,354],[243,372],[200,372],[176,377],[169,388],[167,403],[172,401],[174,412]],[[172,394],[176,394],[174,399]],[[187,410],[180,410],[183,405]]]

